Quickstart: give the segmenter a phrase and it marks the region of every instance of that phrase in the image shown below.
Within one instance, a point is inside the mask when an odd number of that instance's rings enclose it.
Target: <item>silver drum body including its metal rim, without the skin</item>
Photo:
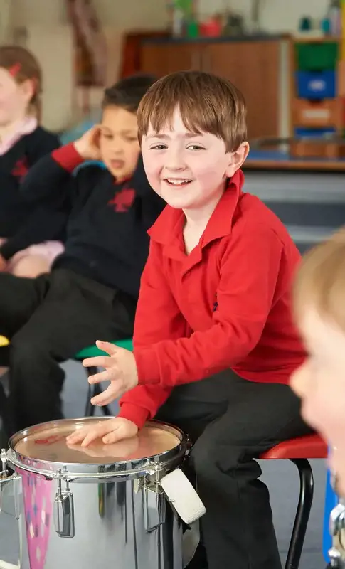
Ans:
[[[159,477],[181,466],[183,436],[174,449],[120,464],[28,461],[13,441],[11,447],[9,462],[21,479],[16,517],[31,569],[182,568],[181,521]]]

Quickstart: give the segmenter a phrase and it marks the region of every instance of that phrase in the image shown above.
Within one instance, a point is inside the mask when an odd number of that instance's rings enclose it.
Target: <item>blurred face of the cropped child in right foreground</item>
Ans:
[[[302,415],[334,450],[331,469],[345,496],[345,332],[313,307],[300,323],[309,356],[292,376],[292,389],[302,398]]]

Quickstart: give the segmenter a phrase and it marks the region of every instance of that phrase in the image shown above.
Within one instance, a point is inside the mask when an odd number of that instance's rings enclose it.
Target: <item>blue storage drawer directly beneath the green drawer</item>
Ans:
[[[335,71],[297,71],[297,94],[302,99],[332,99],[336,97]]]

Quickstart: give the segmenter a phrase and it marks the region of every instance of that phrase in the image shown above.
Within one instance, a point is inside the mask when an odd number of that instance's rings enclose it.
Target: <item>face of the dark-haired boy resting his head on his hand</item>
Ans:
[[[137,116],[121,107],[106,107],[100,125],[100,154],[117,181],[132,176],[139,153]]]

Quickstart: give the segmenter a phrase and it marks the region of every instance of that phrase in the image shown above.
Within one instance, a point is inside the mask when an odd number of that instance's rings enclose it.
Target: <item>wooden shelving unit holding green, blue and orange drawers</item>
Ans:
[[[292,41],[291,155],[339,159],[345,129],[345,53],[341,38]]]

